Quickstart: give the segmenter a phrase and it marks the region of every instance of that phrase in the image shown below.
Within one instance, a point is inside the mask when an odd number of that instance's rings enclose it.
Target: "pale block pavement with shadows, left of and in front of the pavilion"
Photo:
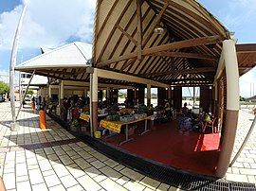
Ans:
[[[40,130],[38,115],[25,110],[18,132],[10,119],[9,102],[0,103],[0,176],[8,190],[179,190],[107,158],[49,118]]]

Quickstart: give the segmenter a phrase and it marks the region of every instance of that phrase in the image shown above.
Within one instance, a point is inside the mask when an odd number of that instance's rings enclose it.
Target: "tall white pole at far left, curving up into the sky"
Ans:
[[[12,123],[10,123],[10,130],[19,130],[19,125],[16,123],[16,114],[15,114],[15,96],[14,96],[14,79],[15,79],[15,65],[17,61],[17,51],[18,51],[18,43],[20,38],[20,32],[23,24],[23,19],[27,10],[27,5],[25,4],[22,10],[22,14],[15,32],[10,63],[9,63],[9,96],[10,96],[10,109],[11,109],[11,118]]]

